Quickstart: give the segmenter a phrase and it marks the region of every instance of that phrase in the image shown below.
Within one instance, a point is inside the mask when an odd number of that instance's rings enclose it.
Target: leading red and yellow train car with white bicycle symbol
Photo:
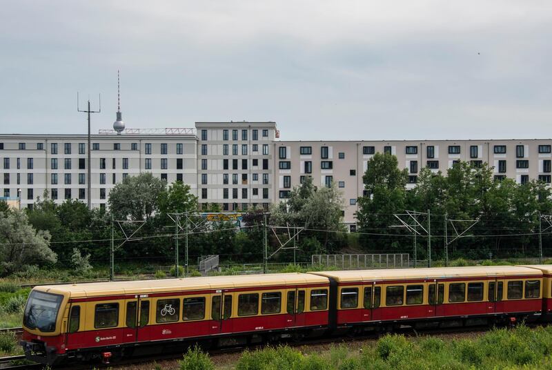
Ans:
[[[52,365],[324,332],[329,290],[303,273],[37,286],[21,345]]]

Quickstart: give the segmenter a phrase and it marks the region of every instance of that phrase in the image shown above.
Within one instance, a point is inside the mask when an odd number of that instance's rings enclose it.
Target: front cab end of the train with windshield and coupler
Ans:
[[[68,294],[48,287],[32,289],[23,311],[23,337],[19,342],[28,360],[57,364],[65,354]]]

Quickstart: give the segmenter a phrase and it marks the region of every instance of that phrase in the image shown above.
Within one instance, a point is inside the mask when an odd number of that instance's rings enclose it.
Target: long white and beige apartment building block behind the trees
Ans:
[[[124,176],[148,171],[168,183],[190,185],[199,203],[244,211],[285,200],[304,176],[316,186],[337,185],[344,222],[355,228],[362,175],[375,153],[397,156],[408,188],[422,167],[437,173],[455,161],[493,166],[495,179],[551,183],[552,139],[426,141],[279,141],[275,122],[197,122],[196,129],[101,130],[92,135],[90,196],[105,207]],[[46,191],[56,202],[88,202],[87,135],[0,135],[0,196],[32,206]]]

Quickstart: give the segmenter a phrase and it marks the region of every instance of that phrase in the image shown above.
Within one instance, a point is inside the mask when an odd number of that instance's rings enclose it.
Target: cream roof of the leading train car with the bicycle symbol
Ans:
[[[35,289],[69,294],[71,298],[98,297],[114,294],[146,294],[169,291],[231,289],[248,286],[274,286],[327,283],[328,279],[308,273],[267,273],[263,275],[221,275],[181,277],[178,279],[132,280],[124,282],[88,282],[43,285]]]

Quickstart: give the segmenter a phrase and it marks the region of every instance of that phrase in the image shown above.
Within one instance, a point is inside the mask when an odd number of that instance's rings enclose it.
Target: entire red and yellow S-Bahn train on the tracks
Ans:
[[[29,360],[108,362],[280,338],[549,320],[552,265],[323,271],[37,286]]]

